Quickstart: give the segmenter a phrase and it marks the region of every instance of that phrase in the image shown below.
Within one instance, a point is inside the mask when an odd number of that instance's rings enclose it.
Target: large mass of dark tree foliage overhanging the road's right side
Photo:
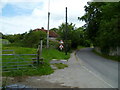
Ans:
[[[85,15],[79,20],[86,22],[85,30],[94,46],[104,53],[120,46],[120,2],[92,2],[85,6]]]

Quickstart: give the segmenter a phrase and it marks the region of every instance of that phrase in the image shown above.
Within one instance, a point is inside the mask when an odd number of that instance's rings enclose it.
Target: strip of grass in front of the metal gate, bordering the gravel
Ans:
[[[53,73],[54,71],[52,70],[52,68],[50,67],[49,64],[43,64],[43,65],[39,65],[35,68],[33,67],[27,67],[25,69],[19,69],[19,70],[11,70],[10,72],[4,72],[3,76],[11,76],[11,77],[15,77],[15,76],[34,76],[34,75],[48,75]]]

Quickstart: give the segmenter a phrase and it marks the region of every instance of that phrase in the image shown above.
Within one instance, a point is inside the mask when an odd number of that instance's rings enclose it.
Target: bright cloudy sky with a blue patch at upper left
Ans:
[[[0,32],[19,34],[30,29],[47,29],[48,11],[50,29],[65,22],[65,7],[68,8],[68,23],[81,27],[85,22],[78,17],[84,15],[84,6],[90,0],[1,0]],[[49,3],[50,2],[50,3]]]

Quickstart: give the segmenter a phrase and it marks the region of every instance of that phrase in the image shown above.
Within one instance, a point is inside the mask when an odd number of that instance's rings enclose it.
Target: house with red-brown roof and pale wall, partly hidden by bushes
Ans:
[[[45,30],[43,27],[41,29],[37,28],[34,29],[33,31],[43,31],[47,33],[47,30]],[[58,37],[58,34],[55,33],[54,31],[49,30],[49,39],[50,40],[55,40]]]

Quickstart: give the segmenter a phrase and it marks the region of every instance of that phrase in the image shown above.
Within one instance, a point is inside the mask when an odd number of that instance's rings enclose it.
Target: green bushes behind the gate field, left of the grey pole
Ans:
[[[43,44],[45,44],[46,33],[30,30],[28,33],[23,34],[3,35],[3,38],[9,40],[15,46],[37,47],[40,40],[43,40]]]

